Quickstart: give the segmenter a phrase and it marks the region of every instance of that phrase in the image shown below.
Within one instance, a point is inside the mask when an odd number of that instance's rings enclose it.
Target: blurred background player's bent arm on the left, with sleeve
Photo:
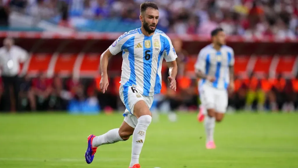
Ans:
[[[206,69],[206,59],[207,59],[207,54],[204,49],[200,51],[198,54],[198,59],[195,63],[195,74],[198,78],[200,79],[207,79],[210,82],[215,81],[215,77],[212,76],[207,76],[205,69]]]

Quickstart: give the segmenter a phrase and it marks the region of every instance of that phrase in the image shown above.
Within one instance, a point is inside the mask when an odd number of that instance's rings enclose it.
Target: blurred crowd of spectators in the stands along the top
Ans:
[[[139,4],[145,0],[2,0],[2,13],[14,11],[77,28],[114,30],[139,24]],[[153,0],[159,5],[159,29],[165,33],[209,35],[220,26],[228,35],[298,35],[296,0]],[[4,9],[3,9],[4,8]],[[8,14],[7,14],[8,15]],[[5,16],[5,15],[3,15]],[[114,24],[111,19],[118,19]],[[106,21],[109,22],[106,22]],[[90,22],[89,22],[90,21]],[[103,30],[98,25],[105,24]],[[5,23],[2,18],[2,25]],[[135,23],[135,24],[133,24]],[[7,23],[8,24],[8,23]],[[110,24],[110,27],[108,26]],[[128,26],[129,27],[129,26]],[[97,30],[96,30],[97,29]],[[125,28],[122,28],[125,29]],[[128,28],[130,30],[132,28]],[[126,29],[125,29],[126,31]]]

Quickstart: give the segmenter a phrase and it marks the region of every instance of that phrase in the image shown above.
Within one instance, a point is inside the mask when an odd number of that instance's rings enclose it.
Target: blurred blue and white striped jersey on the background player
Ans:
[[[216,80],[211,83],[205,79],[199,81],[201,85],[210,85],[218,89],[226,89],[229,85],[229,66],[234,66],[234,51],[231,47],[223,45],[219,51],[213,45],[202,48],[195,63],[195,70],[205,75],[214,76]]]

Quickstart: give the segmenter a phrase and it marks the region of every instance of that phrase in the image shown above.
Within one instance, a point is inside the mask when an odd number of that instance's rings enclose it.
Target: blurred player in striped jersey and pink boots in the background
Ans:
[[[228,106],[228,93],[234,89],[234,51],[225,45],[225,33],[217,28],[211,32],[212,44],[198,54],[195,71],[199,81],[201,109],[199,121],[204,120],[206,148],[215,149],[213,139],[215,120],[221,122]],[[207,110],[207,111],[206,111]]]

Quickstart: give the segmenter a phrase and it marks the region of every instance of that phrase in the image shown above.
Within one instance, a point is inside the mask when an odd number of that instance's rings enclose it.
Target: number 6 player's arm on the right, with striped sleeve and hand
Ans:
[[[164,43],[164,59],[169,67],[169,77],[170,88],[176,91],[176,76],[178,71],[178,66],[176,62],[177,54],[172,45],[169,37],[166,36],[166,42]]]

